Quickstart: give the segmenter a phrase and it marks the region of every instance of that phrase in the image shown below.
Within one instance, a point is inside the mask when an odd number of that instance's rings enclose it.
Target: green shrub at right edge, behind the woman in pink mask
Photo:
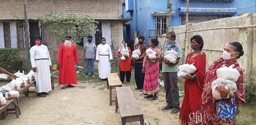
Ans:
[[[256,69],[253,68],[245,78],[246,104],[256,105]]]

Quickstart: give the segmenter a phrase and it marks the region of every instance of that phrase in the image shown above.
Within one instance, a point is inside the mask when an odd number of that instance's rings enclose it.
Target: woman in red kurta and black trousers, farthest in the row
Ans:
[[[130,47],[127,47],[127,42],[124,40],[122,42],[122,44],[124,45],[125,49],[128,48],[129,57],[130,57],[131,56],[131,49],[130,49]],[[117,56],[122,57],[122,54],[121,54],[122,49],[123,48],[119,49]],[[125,75],[126,75],[126,81],[130,82],[130,80],[131,80],[131,70],[132,70],[130,58],[128,56],[124,56],[124,57],[125,57],[125,60],[120,59],[120,72],[119,72],[119,74],[120,74],[120,80],[121,80],[122,83],[124,83],[124,76]]]

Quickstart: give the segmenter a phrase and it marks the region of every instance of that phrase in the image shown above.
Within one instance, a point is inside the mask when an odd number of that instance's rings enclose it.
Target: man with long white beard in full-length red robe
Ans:
[[[70,84],[77,84],[76,81],[76,64],[79,64],[76,46],[71,43],[71,36],[65,37],[65,42],[60,45],[58,64],[59,64],[59,84],[62,89],[74,87]]]

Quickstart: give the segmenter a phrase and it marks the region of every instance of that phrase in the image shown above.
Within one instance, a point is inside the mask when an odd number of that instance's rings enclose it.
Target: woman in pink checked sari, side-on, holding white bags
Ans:
[[[157,48],[159,42],[157,39],[151,39],[149,42],[150,48],[156,52],[155,58],[149,58],[148,55],[145,56],[143,61],[143,69],[142,72],[145,72],[144,78],[144,87],[143,93],[144,98],[152,98],[153,100],[157,100],[158,94],[158,74],[159,74],[159,62],[160,59],[160,50]],[[155,61],[155,62],[152,62]]]

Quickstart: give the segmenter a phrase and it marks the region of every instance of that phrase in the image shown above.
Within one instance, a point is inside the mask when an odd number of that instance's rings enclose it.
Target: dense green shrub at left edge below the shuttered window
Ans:
[[[19,50],[4,48],[0,49],[0,67],[14,73],[22,68],[22,62],[19,59]]]

